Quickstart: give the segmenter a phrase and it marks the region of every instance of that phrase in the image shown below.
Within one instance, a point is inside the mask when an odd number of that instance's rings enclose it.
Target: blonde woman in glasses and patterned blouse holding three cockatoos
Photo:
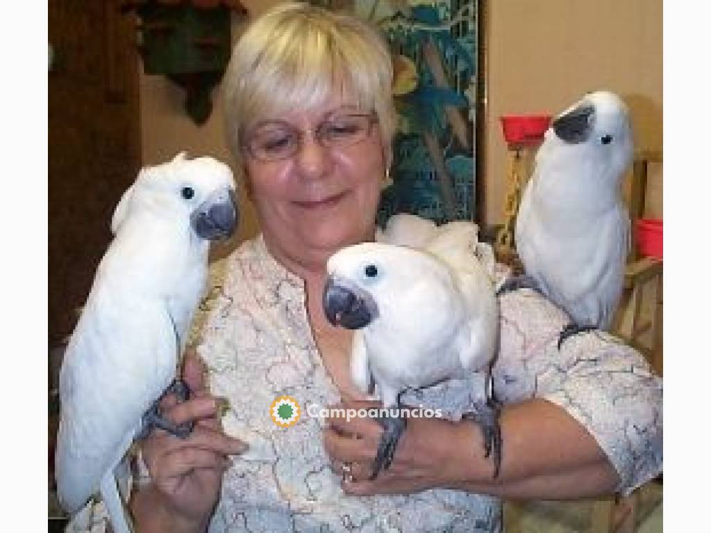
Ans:
[[[210,304],[198,346],[209,383],[188,357],[195,397],[166,403],[196,430],[184,441],[160,430],[144,441],[149,474],[132,496],[139,532],[494,532],[499,498],[626,492],[661,470],[660,380],[599,332],[557,350],[567,317],[528,291],[500,302],[497,478],[478,427],[455,421],[465,382],[402,397],[449,419],[410,419],[375,480],[375,421],[306,415],[376,405],[351,382],[351,332],[326,321],[321,294],[326,259],[375,237],[395,129],[391,78],[377,33],[312,6],[280,4],[235,47],[228,137],[262,235],[228,259]],[[267,414],[282,396],[301,406],[289,427]],[[229,404],[222,427],[218,397]]]

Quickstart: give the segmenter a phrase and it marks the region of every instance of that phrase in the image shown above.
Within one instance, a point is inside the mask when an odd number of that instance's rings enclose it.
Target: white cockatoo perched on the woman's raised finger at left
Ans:
[[[209,241],[236,224],[232,171],[208,157],[143,168],[119,201],[60,371],[55,473],[68,512],[100,492],[114,532],[128,533],[114,470],[152,426],[191,431],[160,419],[157,401],[205,291]]]

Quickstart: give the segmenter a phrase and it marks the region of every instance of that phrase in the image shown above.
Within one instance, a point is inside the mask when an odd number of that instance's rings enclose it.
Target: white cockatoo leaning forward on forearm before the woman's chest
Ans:
[[[476,225],[458,221],[435,227],[401,218],[381,237],[400,244],[355,244],[333,254],[326,266],[326,317],[356,330],[351,353],[356,386],[370,392],[375,382],[383,407],[390,409],[406,389],[474,372],[488,376],[498,348],[498,301],[491,276],[475,255]],[[498,471],[498,412],[489,402],[472,407]],[[379,421],[385,431],[373,477],[390,465],[405,429],[402,417]]]

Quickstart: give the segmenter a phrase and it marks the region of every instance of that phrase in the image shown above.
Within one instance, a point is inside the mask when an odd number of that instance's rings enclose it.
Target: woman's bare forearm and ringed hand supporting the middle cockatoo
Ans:
[[[368,409],[349,402],[343,409]],[[368,480],[381,429],[370,419],[331,419],[326,451],[340,472],[353,463],[353,495],[403,494],[428,488],[456,488],[508,499],[569,500],[614,492],[619,478],[594,438],[560,407],[534,399],[506,407],[501,415],[501,470],[483,456],[479,426],[471,421],[408,419],[395,460]],[[358,435],[360,438],[352,438]]]

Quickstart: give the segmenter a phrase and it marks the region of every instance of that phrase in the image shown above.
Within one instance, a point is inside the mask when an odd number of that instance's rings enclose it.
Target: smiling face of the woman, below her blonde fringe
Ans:
[[[336,249],[372,239],[387,154],[380,128],[369,122],[365,138],[349,146],[329,140],[352,131],[351,115],[370,114],[353,102],[334,95],[319,108],[266,117],[247,131],[247,144],[256,146],[245,154],[247,179],[272,253],[325,261]],[[298,139],[293,155],[263,161],[262,151],[257,158],[260,149],[284,151],[288,139]]]

